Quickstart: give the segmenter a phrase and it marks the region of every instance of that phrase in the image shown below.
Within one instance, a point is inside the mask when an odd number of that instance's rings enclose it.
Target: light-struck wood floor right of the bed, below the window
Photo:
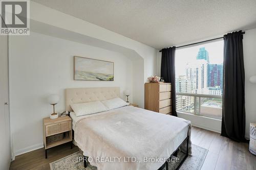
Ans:
[[[248,143],[235,142],[219,133],[197,127],[192,128],[191,141],[208,149],[201,169],[256,169],[256,156],[248,151]]]

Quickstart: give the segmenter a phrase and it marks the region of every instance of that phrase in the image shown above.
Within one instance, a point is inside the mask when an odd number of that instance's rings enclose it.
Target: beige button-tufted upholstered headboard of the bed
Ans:
[[[74,103],[102,101],[119,96],[119,87],[68,88],[65,90],[66,110],[72,111],[70,105]]]

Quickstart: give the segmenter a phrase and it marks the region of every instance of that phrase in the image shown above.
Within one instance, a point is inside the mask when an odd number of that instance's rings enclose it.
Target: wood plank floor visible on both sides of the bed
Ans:
[[[191,141],[199,147],[208,149],[207,156],[201,169],[256,169],[256,156],[248,151],[248,143],[234,142],[219,133],[193,127]],[[23,155],[16,156],[11,162],[11,170],[45,170],[50,169],[50,162],[68,156],[79,149],[70,144],[63,144],[48,151],[45,159],[45,150],[39,149]]]

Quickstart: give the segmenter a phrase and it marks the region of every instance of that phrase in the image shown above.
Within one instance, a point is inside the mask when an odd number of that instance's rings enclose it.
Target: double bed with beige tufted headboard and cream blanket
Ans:
[[[133,106],[76,116],[70,107],[119,96],[119,87],[66,89],[75,143],[98,170],[162,169],[178,148],[191,154],[188,120]]]

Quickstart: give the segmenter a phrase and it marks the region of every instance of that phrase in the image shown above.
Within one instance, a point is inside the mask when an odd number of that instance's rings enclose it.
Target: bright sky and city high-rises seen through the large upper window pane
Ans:
[[[215,48],[215,57],[211,56],[212,51],[211,53],[208,52],[208,49],[212,48]],[[217,41],[180,50],[180,53],[176,56],[176,64],[182,59],[183,64],[185,65],[183,68],[178,68],[178,70],[182,70],[182,74],[179,74],[179,72],[177,74],[176,72],[176,81],[179,81],[180,77],[182,77],[182,79],[188,79],[191,84],[191,93],[222,95],[222,49],[223,41]],[[187,56],[183,56],[181,54],[186,54]],[[218,55],[218,57],[216,57],[216,55]]]

